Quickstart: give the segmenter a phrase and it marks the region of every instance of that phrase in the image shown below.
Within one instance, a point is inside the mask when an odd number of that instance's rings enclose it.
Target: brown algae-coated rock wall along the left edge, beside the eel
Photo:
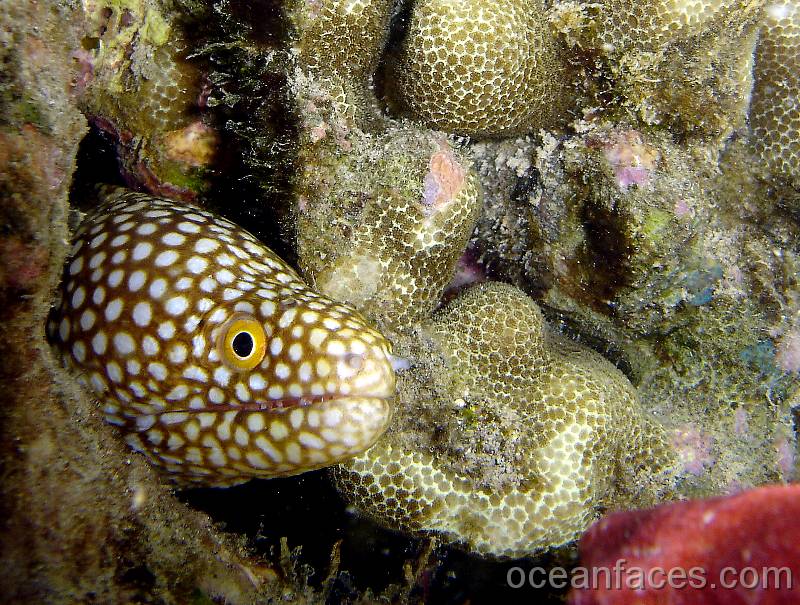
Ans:
[[[69,94],[76,74],[64,61],[82,22],[66,5],[2,2],[0,24],[3,600],[175,603],[199,591],[250,602],[275,573],[245,564],[241,542],[109,440],[95,402],[44,342],[86,132]]]

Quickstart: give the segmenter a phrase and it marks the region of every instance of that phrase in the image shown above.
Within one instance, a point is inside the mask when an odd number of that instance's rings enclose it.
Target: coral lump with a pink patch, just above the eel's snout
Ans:
[[[298,244],[301,266],[322,292],[404,326],[439,303],[481,197],[475,174],[448,143],[402,132],[384,141],[393,153],[365,201],[354,188],[360,179],[332,178],[329,191],[309,192],[298,216]],[[366,155],[353,154],[356,174],[371,169]],[[331,221],[333,229],[320,236]]]

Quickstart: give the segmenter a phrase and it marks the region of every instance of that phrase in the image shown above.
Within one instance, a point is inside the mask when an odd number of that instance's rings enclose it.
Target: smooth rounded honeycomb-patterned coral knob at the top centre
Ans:
[[[423,0],[390,59],[402,111],[430,128],[498,136],[552,127],[567,113],[558,42],[537,0]]]

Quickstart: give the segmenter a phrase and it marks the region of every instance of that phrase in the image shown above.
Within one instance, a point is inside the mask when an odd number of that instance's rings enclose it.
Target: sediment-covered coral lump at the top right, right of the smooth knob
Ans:
[[[580,30],[586,37],[580,43],[604,57],[627,112],[721,145],[746,123],[762,5],[761,0],[587,3],[592,23]]]

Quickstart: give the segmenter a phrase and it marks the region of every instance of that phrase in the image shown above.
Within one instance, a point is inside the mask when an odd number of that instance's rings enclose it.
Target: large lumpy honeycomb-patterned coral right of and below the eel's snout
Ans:
[[[600,355],[549,332],[522,292],[475,286],[423,329],[449,379],[437,429],[455,426],[444,419],[460,415],[455,401],[477,418],[444,443],[431,426],[429,441],[414,445],[405,434],[413,421],[399,418],[338,467],[339,488],[368,515],[478,553],[523,557],[575,539],[603,507],[665,495],[674,454],[631,384]],[[491,445],[479,428],[489,419],[499,432]],[[477,454],[481,447],[491,456]],[[484,464],[510,468],[499,476]]]

